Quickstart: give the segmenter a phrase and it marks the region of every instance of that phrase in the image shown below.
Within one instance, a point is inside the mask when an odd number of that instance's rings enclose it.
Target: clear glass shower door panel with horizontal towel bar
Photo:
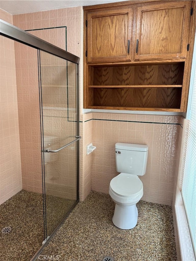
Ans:
[[[78,200],[78,73],[77,64],[41,50],[39,60],[47,238]]]

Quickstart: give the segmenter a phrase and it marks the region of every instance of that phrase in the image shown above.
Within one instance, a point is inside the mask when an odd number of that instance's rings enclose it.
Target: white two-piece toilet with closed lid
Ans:
[[[109,194],[116,203],[112,222],[120,229],[132,229],[137,225],[136,203],[143,196],[143,184],[138,176],[146,171],[148,146],[116,143],[116,170],[120,174],[110,181]]]

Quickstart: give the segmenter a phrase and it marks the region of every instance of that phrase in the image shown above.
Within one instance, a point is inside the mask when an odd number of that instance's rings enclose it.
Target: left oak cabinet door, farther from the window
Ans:
[[[87,62],[130,60],[132,9],[87,14]]]

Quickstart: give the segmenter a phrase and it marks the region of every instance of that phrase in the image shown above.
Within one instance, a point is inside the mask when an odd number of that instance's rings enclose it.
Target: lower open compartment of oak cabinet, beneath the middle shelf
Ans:
[[[182,88],[92,88],[91,106],[180,109]]]

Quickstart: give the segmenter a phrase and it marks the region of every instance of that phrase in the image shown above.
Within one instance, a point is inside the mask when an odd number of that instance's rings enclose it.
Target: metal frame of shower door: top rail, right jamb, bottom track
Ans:
[[[32,34],[29,34],[28,32],[25,32],[21,30],[20,28],[17,28],[16,26],[9,24],[2,19],[0,19],[0,35],[7,37],[9,39],[12,39],[14,41],[17,41],[19,43],[23,43],[27,46],[33,47],[38,50],[38,53],[40,50],[50,53],[52,55],[55,55],[59,58],[63,58],[67,61],[73,62],[77,65],[77,73],[76,73],[76,81],[77,81],[77,88],[76,88],[76,99],[77,99],[77,136],[75,142],[77,142],[77,200],[75,201],[74,205],[70,209],[70,211],[64,216],[62,221],[58,224],[58,226],[54,229],[54,231],[51,233],[48,240],[45,241],[43,246],[41,246],[38,251],[35,253],[35,255],[32,257],[30,261],[34,261],[38,255],[42,252],[43,248],[48,244],[48,242],[51,240],[51,238],[55,235],[56,231],[59,229],[60,226],[62,226],[62,223],[65,221],[67,216],[70,214],[70,212],[74,209],[74,207],[77,205],[79,201],[79,139],[81,138],[79,136],[79,61],[80,58],[77,57],[74,54],[71,54],[51,43],[48,43]],[[39,60],[39,59],[38,59]],[[39,61],[38,61],[39,63]],[[40,119],[41,120],[41,119]],[[41,137],[42,138],[42,137]],[[44,218],[45,222],[45,218]],[[45,233],[44,233],[45,237]]]

